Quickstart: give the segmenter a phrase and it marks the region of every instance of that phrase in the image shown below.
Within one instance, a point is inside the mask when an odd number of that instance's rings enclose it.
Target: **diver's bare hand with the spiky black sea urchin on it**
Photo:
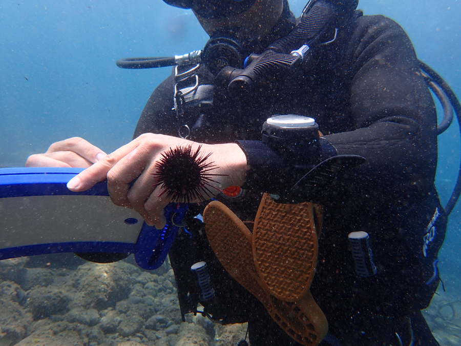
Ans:
[[[67,187],[80,192],[90,189],[98,181],[107,178],[108,190],[117,206],[135,209],[149,225],[157,229],[165,226],[163,208],[172,201],[164,189],[157,185],[158,163],[162,154],[178,147],[192,147],[192,152],[200,148],[206,163],[213,163],[216,169],[208,171],[214,181],[208,181],[208,191],[202,191],[203,199],[216,196],[229,186],[241,186],[246,176],[246,157],[237,144],[207,145],[190,140],[160,134],[145,133],[129,144],[107,155],[93,166],[78,174]],[[187,177],[190,167],[179,166]],[[136,180],[136,181],[135,181]],[[134,181],[134,184],[132,182]],[[203,200],[202,199],[202,200]],[[197,201],[191,198],[191,202]]]

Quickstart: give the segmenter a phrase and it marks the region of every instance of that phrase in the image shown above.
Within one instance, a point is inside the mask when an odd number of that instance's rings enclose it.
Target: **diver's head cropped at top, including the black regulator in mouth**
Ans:
[[[287,35],[296,19],[287,0],[163,0],[192,9],[211,37],[201,60],[213,74],[224,67],[243,68],[245,58]]]

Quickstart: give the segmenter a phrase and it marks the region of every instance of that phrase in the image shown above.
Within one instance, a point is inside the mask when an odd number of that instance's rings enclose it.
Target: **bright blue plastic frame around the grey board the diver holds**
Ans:
[[[2,168],[0,169],[0,198],[27,196],[86,195],[109,196],[107,182],[98,182],[83,192],[67,188],[70,179],[83,171],[81,168]],[[148,226],[141,228],[136,244],[113,241],[55,242],[0,250],[0,259],[65,252],[113,252],[134,254],[138,265],[147,270],[160,267],[178,233],[186,206],[171,203],[165,208],[170,220],[162,230]],[[171,222],[174,217],[175,222]]]

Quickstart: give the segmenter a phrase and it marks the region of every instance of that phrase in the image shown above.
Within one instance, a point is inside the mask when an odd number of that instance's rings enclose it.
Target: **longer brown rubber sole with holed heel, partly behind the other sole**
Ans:
[[[253,256],[254,235],[244,223],[218,201],[209,203],[203,219],[209,243],[226,271],[261,301],[290,337],[305,346],[317,345],[327,334],[328,322],[309,287],[295,302],[278,299],[259,276]]]

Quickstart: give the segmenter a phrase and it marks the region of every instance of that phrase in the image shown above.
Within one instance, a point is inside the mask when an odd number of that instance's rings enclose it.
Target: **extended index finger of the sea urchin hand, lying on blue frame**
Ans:
[[[138,146],[136,140],[117,149],[113,153],[99,160],[93,166],[73,177],[68,183],[67,188],[74,192],[86,191],[93,187],[97,182],[106,179],[107,173],[114,167],[118,161],[127,156]]]

